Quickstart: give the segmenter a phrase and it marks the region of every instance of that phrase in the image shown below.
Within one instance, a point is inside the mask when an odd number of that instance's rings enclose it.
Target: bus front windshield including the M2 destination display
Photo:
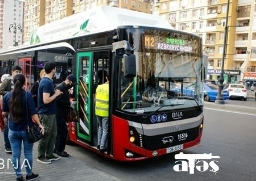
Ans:
[[[123,60],[119,62],[118,109],[150,112],[159,106],[167,110],[168,105],[186,108],[202,104],[200,37],[146,28],[123,29],[119,34],[137,47],[137,75],[125,77]]]

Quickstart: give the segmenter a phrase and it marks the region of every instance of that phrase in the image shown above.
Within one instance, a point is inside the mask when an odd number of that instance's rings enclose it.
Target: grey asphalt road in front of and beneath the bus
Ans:
[[[255,181],[256,109],[251,106],[241,107],[234,104],[218,105],[214,108],[215,106],[214,103],[207,103],[205,106],[205,124],[201,144],[183,150],[183,152],[219,155],[221,158],[217,164],[220,170],[216,174],[209,170],[195,171],[195,174],[175,172],[173,169],[176,161],[174,155],[177,153],[141,162],[122,163],[102,158],[81,146],[68,146],[67,150],[77,159],[124,181]],[[248,111],[249,108],[251,110]]]

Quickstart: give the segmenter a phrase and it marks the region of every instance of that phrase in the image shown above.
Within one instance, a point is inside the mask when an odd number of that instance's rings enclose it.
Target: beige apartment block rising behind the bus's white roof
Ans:
[[[36,27],[100,5],[150,13],[150,0],[26,0],[24,42]]]

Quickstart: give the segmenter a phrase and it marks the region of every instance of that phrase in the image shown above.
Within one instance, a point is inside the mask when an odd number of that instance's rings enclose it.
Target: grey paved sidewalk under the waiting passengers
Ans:
[[[96,170],[85,162],[81,162],[78,159],[72,157],[68,158],[61,157],[58,161],[52,161],[51,164],[44,165],[42,163],[36,162],[38,143],[34,144],[33,149],[33,172],[40,175],[39,181],[48,180],[120,180],[112,175],[106,174],[105,172]],[[20,164],[22,165],[24,160],[24,153],[22,148],[22,157]],[[0,132],[0,180],[1,181],[11,181],[15,180],[14,169],[11,165],[11,154],[5,153],[5,147],[3,143],[3,133]],[[9,168],[7,168],[9,162]],[[26,169],[22,168],[23,178],[26,178]]]

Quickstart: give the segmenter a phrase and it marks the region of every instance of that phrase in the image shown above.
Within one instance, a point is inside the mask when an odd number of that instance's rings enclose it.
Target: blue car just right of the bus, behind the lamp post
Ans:
[[[223,90],[224,100],[229,99],[229,91]],[[212,83],[204,83],[204,100],[205,101],[215,101],[218,95],[218,86]]]

